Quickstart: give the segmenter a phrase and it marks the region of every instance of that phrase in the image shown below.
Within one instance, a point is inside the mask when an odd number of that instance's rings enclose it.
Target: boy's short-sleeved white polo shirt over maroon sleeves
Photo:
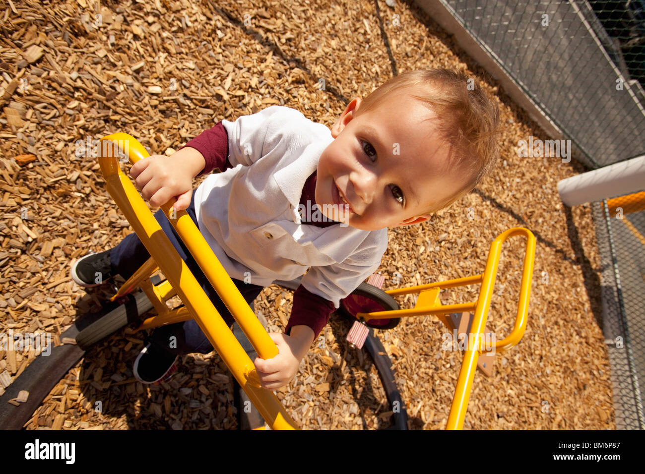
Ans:
[[[195,190],[204,239],[230,277],[268,286],[306,273],[304,288],[338,308],[379,268],[388,230],[301,223],[304,183],[332,133],[283,106],[222,124],[233,168],[209,175]]]

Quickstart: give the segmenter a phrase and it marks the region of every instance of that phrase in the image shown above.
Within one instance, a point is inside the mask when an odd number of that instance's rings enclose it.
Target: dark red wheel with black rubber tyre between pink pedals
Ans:
[[[373,313],[375,311],[395,311],[399,309],[396,302],[388,293],[368,283],[361,283],[348,297],[343,298],[340,304],[342,315],[352,320],[358,313]],[[375,329],[392,329],[399,324],[401,318],[370,319],[366,324]]]

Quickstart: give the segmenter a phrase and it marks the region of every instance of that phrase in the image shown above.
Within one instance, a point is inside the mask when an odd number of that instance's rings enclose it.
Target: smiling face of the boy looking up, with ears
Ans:
[[[448,167],[449,146],[435,133],[435,115],[409,92],[356,117],[360,105],[353,99],[347,106],[320,157],[315,200],[321,212],[361,230],[430,219],[424,211],[455,195],[468,178]]]

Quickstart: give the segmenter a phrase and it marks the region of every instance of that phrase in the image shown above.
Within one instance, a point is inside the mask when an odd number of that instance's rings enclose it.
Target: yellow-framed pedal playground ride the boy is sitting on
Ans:
[[[149,156],[143,146],[134,137],[126,133],[115,133],[103,137],[101,140],[119,143],[122,146],[124,144],[130,164],[134,164],[139,159]],[[172,246],[168,237],[161,230],[161,226],[155,220],[154,215],[146,206],[139,192],[137,192],[130,179],[121,172],[119,161],[117,160],[118,153],[115,152],[114,146],[101,148],[103,152],[99,153],[99,164],[106,181],[106,189],[126,219],[128,219],[132,228],[134,228],[139,239],[141,239],[141,242],[146,247],[146,250],[150,253],[150,259],[124,282],[114,297],[112,297],[111,302],[108,303],[110,314],[113,314],[113,317],[97,317],[95,321],[90,321],[86,328],[77,328],[74,326],[74,328],[70,328],[72,332],[69,335],[75,337],[79,346],[86,348],[118,328],[128,324],[128,322],[131,322],[133,320],[132,313],[139,315],[152,308],[157,311],[157,315],[143,321],[138,328],[139,330],[194,318],[213,345],[213,348],[215,348],[226,366],[228,366],[233,377],[244,390],[246,396],[248,396],[248,399],[257,408],[266,424],[272,429],[297,428],[295,422],[286,412],[275,394],[261,388],[255,366],[253,366],[253,361],[249,357],[249,348],[245,350],[230,328],[226,326],[221,315],[219,315],[212,302],[206,296],[206,293],[204,293],[201,286],[197,283],[194,275],[188,270],[186,263],[179,257],[174,246]],[[239,329],[248,338],[255,353],[263,359],[274,357],[277,355],[277,346],[275,346],[257,317],[255,317],[252,308],[246,304],[246,301],[244,301],[244,298],[237,290],[235,284],[233,284],[221,263],[217,261],[217,257],[215,257],[215,254],[204,240],[204,237],[188,213],[185,211],[175,212],[172,208],[175,202],[176,199],[172,198],[161,206],[164,214],[168,217],[177,234],[194,256],[195,261],[203,270],[208,281],[210,281],[224,304],[226,304],[235,321],[239,324]],[[516,235],[524,235],[526,237],[526,250],[515,326],[508,337],[502,339],[502,341],[494,342],[494,344],[488,344],[486,334],[489,331],[486,329],[486,317],[490,306],[502,244],[506,239]],[[469,332],[466,335],[464,359],[446,426],[448,429],[462,428],[475,369],[479,366],[484,373],[490,373],[490,364],[487,370],[486,361],[494,357],[495,351],[506,351],[510,349],[520,341],[524,334],[528,315],[528,301],[530,297],[534,258],[535,237],[533,233],[525,228],[511,228],[501,233],[491,244],[484,273],[471,277],[388,291],[380,290],[384,278],[381,275],[375,274],[370,277],[368,283],[361,284],[357,290],[342,300],[341,313],[353,319],[355,321],[353,330],[360,332],[359,340],[352,342],[360,347],[367,341],[366,348],[370,351],[379,369],[381,380],[388,394],[388,401],[392,403],[393,400],[398,400],[401,408],[403,407],[402,400],[393,383],[389,359],[387,362],[384,361],[384,359],[387,359],[383,357],[385,350],[382,348],[378,339],[373,337],[370,328],[386,330],[396,326],[401,317],[437,315],[439,320],[449,330],[458,330],[459,333]],[[151,278],[152,273],[156,272],[157,269],[160,269],[166,277],[165,281],[160,281],[161,279],[157,275]],[[295,290],[299,286],[299,279],[291,282],[276,281],[275,283]],[[477,283],[481,283],[481,290],[479,291],[479,298],[476,302],[450,304],[446,306],[441,304],[439,293],[442,289]],[[135,292],[137,288],[141,288],[142,291]],[[399,310],[397,302],[392,297],[407,293],[419,293],[415,308],[411,310]],[[175,294],[181,298],[184,306],[170,310],[166,306],[166,301]],[[129,305],[132,311],[121,309],[124,305]],[[473,311],[474,315],[470,315],[470,311]],[[68,350],[65,354],[62,351],[58,351],[52,355],[56,355],[59,358],[58,360],[63,360],[64,362],[69,362],[70,360],[77,361],[82,357],[84,352],[79,352],[80,350],[77,349],[77,346],[73,347],[74,350]],[[38,359],[42,359],[42,357],[37,358],[25,370],[26,377],[32,381],[32,384],[37,377],[42,377],[43,373],[45,373],[42,368],[40,371],[38,370]],[[52,362],[55,360],[57,359],[52,359]],[[42,366],[43,364],[44,362],[40,365]],[[32,365],[35,368],[29,371]],[[61,373],[59,368],[58,371],[49,373],[48,377],[52,380],[56,377],[60,379],[64,373],[65,371]],[[17,382],[18,380],[14,381],[14,384],[8,388],[3,398],[12,396],[13,391],[21,388],[21,384]],[[42,396],[45,397],[46,393]],[[403,416],[399,416],[395,420],[395,427],[406,429],[404,408],[402,408],[402,412]],[[3,415],[0,414],[0,428],[6,428],[7,423],[6,417],[3,419]]]

